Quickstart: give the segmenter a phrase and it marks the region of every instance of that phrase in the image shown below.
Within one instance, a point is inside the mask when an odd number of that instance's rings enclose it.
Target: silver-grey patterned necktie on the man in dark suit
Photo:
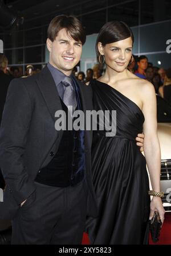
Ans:
[[[65,77],[62,80],[64,85],[63,103],[68,107],[72,106],[73,110],[76,109],[77,102],[75,97],[74,87],[72,86],[72,79],[70,77]],[[70,113],[72,116],[72,113]]]

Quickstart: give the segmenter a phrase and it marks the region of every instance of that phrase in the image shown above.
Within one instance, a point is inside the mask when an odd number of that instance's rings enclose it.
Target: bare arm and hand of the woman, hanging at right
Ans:
[[[145,122],[143,125],[144,138],[144,154],[146,164],[148,166],[152,189],[160,192],[160,170],[161,170],[161,154],[160,143],[157,136],[157,104],[154,86],[145,82],[142,86],[143,114]],[[164,221],[164,207],[162,206],[160,197],[153,197],[150,203],[150,217],[154,215],[154,211],[158,211],[161,221]]]

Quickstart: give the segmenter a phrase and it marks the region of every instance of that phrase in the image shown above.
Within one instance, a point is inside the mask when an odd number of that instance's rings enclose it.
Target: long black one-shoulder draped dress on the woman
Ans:
[[[99,217],[87,219],[92,244],[148,244],[150,197],[146,161],[135,138],[143,131],[139,106],[106,83],[93,80],[94,110],[116,110],[116,135],[93,132],[92,179]],[[105,127],[104,127],[105,128]]]

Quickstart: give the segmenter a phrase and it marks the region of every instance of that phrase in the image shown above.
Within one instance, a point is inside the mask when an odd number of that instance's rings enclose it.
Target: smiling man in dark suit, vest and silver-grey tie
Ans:
[[[6,181],[0,218],[13,219],[13,244],[79,244],[86,215],[97,216],[91,179],[92,131],[55,130],[55,113],[92,110],[89,86],[72,69],[86,41],[75,17],[48,27],[50,61],[38,74],[14,79],[0,131]],[[68,123],[66,123],[68,126]]]

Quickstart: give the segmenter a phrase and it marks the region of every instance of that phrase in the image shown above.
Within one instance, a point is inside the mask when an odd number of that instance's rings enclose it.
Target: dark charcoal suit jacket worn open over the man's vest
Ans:
[[[92,110],[92,91],[78,82],[83,111]],[[0,219],[13,218],[19,205],[35,190],[39,169],[51,161],[63,131],[55,130],[55,112],[62,110],[50,71],[13,79],[7,93],[0,130],[0,168],[6,181]],[[89,188],[87,214],[95,217],[97,206],[91,178],[92,131],[85,131],[86,179]]]

